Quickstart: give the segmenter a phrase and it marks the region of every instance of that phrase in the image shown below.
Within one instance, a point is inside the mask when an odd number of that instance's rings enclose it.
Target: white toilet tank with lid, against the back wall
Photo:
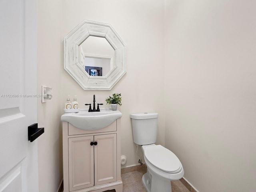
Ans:
[[[130,114],[130,118],[134,143],[148,145],[156,142],[158,113]]]

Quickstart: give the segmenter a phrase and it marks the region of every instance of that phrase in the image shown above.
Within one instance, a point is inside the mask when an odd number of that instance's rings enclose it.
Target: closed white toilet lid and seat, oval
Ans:
[[[178,173],[182,165],[178,157],[161,145],[153,145],[145,148],[145,158],[156,168],[167,173]]]

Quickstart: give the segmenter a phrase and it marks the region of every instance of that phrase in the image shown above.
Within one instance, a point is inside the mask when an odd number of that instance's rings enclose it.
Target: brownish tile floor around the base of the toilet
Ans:
[[[130,172],[121,172],[123,181],[123,192],[147,192],[142,184],[142,175],[146,173],[146,168],[131,170]],[[108,190],[106,192],[115,192]],[[172,181],[172,192],[190,192],[180,180]]]

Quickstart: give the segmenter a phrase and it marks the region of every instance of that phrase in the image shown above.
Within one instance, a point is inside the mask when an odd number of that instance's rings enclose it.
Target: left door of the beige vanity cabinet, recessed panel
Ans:
[[[94,186],[93,136],[68,138],[69,190]]]

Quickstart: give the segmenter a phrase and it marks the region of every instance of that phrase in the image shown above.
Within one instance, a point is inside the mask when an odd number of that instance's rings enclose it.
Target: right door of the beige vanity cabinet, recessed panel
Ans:
[[[94,136],[95,185],[116,181],[116,134]]]

